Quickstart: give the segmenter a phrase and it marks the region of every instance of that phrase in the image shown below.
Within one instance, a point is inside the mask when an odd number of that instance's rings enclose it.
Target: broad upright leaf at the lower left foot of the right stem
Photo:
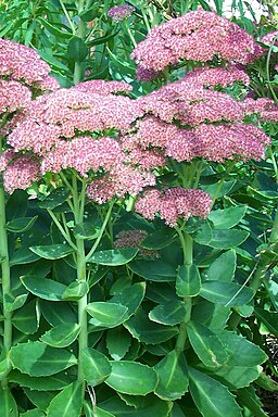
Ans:
[[[169,352],[154,369],[160,378],[155,394],[162,400],[178,400],[188,391],[188,366],[184,353]]]

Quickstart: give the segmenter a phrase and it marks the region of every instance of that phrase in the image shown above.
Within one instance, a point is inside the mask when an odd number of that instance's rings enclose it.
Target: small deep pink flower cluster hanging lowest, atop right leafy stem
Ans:
[[[136,202],[136,212],[150,220],[160,215],[166,225],[175,227],[178,218],[205,218],[211,206],[212,199],[205,191],[174,187],[164,191],[146,191]]]

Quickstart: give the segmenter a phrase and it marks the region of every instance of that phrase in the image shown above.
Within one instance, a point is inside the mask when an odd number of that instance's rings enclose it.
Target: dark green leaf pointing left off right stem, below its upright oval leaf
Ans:
[[[173,300],[160,304],[149,313],[152,321],[161,325],[174,326],[180,324],[186,315],[186,307],[182,301]]]

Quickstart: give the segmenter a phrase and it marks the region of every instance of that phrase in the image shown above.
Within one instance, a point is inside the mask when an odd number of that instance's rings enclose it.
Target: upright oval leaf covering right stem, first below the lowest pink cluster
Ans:
[[[201,289],[201,276],[195,265],[178,267],[176,292],[179,296],[195,296]]]

